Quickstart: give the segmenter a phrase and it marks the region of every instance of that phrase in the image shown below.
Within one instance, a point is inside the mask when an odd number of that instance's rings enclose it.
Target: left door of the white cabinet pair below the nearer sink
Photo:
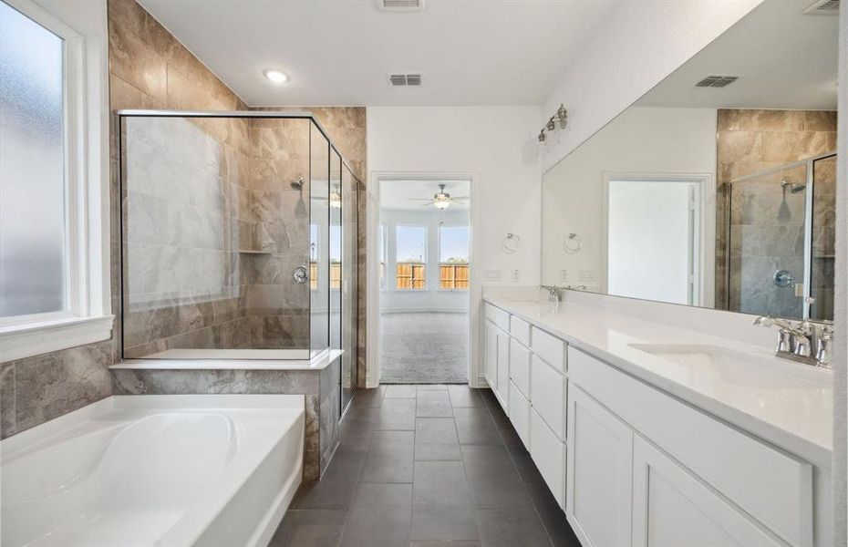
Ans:
[[[572,384],[568,407],[565,514],[584,547],[629,546],[633,432]]]

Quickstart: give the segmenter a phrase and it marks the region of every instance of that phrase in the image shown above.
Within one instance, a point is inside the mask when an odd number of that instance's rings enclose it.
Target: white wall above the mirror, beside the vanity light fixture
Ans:
[[[546,147],[543,169],[588,139],[761,0],[622,2],[543,103],[538,129],[564,103],[568,127]]]

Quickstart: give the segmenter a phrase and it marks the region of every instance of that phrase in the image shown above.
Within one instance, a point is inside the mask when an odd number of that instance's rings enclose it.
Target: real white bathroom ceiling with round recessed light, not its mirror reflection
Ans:
[[[612,0],[140,0],[250,106],[537,105]],[[277,86],[264,68],[292,81]],[[392,88],[390,72],[420,72]]]

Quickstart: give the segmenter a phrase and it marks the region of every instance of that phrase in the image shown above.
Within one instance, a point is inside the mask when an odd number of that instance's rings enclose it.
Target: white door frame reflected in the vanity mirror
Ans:
[[[693,182],[698,185],[698,296],[689,305],[715,307],[716,304],[716,184],[712,173],[651,171],[603,171],[601,195],[601,286],[607,292],[609,269],[609,181]],[[714,283],[710,284],[709,281]]]

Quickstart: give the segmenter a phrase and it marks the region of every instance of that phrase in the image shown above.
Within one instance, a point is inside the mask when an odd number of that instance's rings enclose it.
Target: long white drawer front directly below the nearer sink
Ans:
[[[583,352],[569,381],[792,544],[812,544],[812,466]]]

